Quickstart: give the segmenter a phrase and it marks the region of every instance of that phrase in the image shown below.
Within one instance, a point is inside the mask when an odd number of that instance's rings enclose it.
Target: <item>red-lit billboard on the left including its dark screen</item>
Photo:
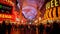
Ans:
[[[10,20],[15,22],[17,15],[14,7],[14,3],[11,1],[0,1],[0,21]]]

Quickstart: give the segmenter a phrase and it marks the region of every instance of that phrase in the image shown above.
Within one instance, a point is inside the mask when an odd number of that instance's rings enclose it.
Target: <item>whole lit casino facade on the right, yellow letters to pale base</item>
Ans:
[[[45,5],[45,13],[42,22],[60,20],[60,0],[51,0]]]

